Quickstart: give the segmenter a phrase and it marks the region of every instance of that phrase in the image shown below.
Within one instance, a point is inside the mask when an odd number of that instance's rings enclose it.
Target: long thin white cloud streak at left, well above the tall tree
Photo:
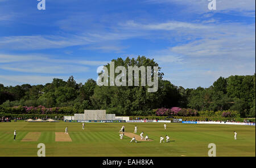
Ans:
[[[137,33],[84,33],[81,35],[65,36],[8,36],[0,37],[0,49],[12,50],[38,50],[57,49],[68,46],[97,45],[99,50],[104,49],[102,43],[113,40],[125,40],[131,37],[138,37]],[[96,48],[94,48],[96,49]],[[106,49],[106,48],[105,48]],[[117,48],[108,48],[117,50]]]

